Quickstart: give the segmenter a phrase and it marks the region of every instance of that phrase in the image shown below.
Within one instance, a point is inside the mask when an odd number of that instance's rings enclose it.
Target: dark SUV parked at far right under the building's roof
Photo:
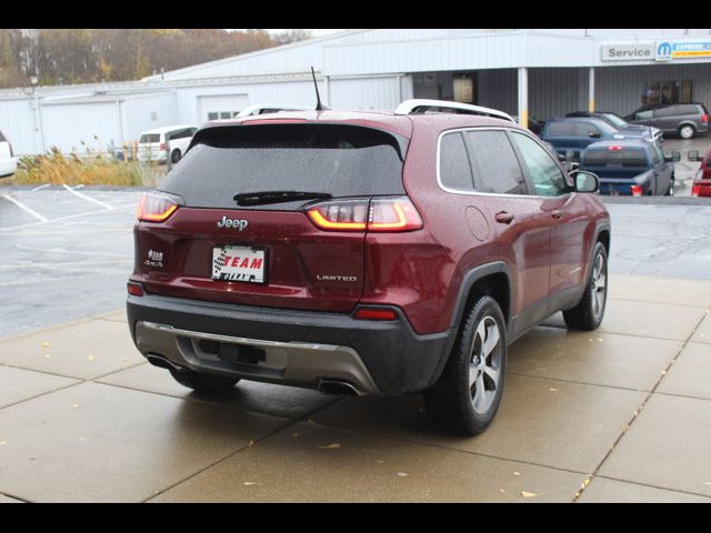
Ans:
[[[655,103],[643,105],[624,118],[632,124],[659,128],[682,139],[709,132],[709,111],[703,103]]]

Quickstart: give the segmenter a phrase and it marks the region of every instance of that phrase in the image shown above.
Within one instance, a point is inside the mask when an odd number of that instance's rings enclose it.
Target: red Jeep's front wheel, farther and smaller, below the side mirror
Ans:
[[[600,263],[599,263],[600,261]],[[599,264],[602,270],[598,271]],[[601,272],[602,278],[599,276]],[[571,330],[597,330],[604,318],[604,306],[608,302],[608,251],[601,242],[595,243],[592,265],[588,275],[585,292],[578,305],[563,311],[565,325]]]

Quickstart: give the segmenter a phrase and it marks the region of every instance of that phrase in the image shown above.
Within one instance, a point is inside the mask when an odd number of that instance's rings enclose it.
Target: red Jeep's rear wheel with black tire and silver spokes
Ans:
[[[494,342],[495,333],[498,341],[485,352],[487,341]],[[505,370],[503,313],[493,298],[481,296],[464,318],[442,375],[423,393],[428,414],[437,425],[454,433],[477,435],[483,432],[499,410]],[[492,378],[494,371],[495,380]],[[475,408],[477,403],[479,408]]]

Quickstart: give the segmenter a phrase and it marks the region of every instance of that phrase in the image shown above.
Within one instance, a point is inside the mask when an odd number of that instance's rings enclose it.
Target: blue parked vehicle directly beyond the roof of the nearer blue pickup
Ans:
[[[615,128],[590,117],[549,120],[541,133],[541,139],[551,143],[560,157],[568,157],[575,162],[593,142],[623,138]]]

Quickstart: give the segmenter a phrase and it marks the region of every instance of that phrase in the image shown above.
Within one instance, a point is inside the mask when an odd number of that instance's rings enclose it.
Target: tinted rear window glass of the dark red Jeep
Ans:
[[[343,124],[254,124],[201,130],[159,189],[187,207],[237,209],[233,197],[299,191],[333,198],[404,194],[405,141]],[[239,209],[291,210],[303,201]]]

